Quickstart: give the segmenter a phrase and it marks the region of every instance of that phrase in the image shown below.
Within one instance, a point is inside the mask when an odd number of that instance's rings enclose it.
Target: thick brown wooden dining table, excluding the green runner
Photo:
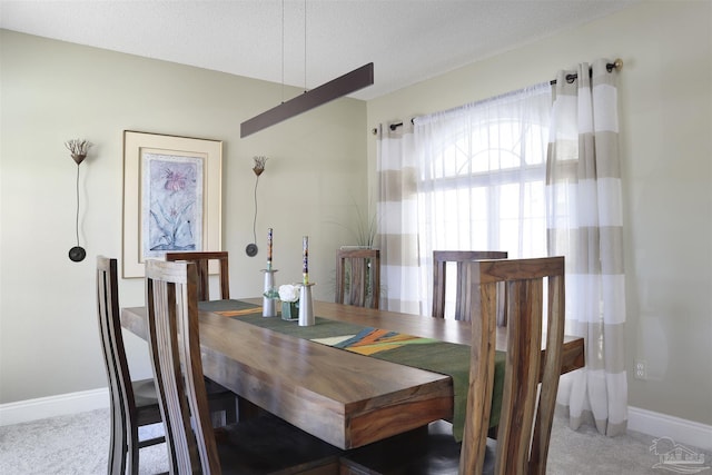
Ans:
[[[259,299],[241,299],[260,305]],[[314,301],[320,318],[468,345],[467,321]],[[204,373],[240,397],[340,448],[359,447],[453,416],[453,379],[200,311]],[[279,317],[267,317],[279,318]],[[121,325],[147,338],[146,308]],[[293,323],[297,325],[297,323]],[[506,331],[497,333],[506,350]],[[583,367],[583,338],[565,337],[562,374]]]

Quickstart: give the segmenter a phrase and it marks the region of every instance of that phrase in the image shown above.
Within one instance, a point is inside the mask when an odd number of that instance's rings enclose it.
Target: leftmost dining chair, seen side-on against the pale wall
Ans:
[[[139,441],[140,426],[161,422],[154,379],[131,380],[119,320],[117,260],[97,257],[97,314],[103,363],[109,383],[111,436],[109,474],[138,473],[139,449],[165,442]]]

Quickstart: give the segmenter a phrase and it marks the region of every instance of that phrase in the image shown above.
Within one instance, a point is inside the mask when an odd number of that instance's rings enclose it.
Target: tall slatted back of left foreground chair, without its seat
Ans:
[[[200,359],[197,267],[146,261],[148,343],[170,473],[219,474]]]

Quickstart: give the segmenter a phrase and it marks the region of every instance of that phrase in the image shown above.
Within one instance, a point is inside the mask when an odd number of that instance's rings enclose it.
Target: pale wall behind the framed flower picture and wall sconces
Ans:
[[[340,99],[240,139],[240,122],[279,103],[280,85],[10,31],[0,31],[0,403],[106,387],[95,258],[121,257],[127,129],[224,141],[234,297],[261,294],[273,227],[277,283],[300,280],[309,235],[315,297],[334,298],[335,250],[353,244],[355,205],[367,200],[365,102]],[[96,144],[80,168],[87,259],[78,264],[67,257],[76,244],[71,138]],[[256,155],[270,158],[258,189],[260,253],[249,258]],[[122,279],[121,305],[142,305],[142,285]],[[128,344],[134,376],[149,375],[146,344]]]

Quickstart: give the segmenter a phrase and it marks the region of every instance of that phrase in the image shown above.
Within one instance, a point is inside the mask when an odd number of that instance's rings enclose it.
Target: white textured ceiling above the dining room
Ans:
[[[0,0],[0,27],[307,89],[374,62],[368,100],[637,1]]]

